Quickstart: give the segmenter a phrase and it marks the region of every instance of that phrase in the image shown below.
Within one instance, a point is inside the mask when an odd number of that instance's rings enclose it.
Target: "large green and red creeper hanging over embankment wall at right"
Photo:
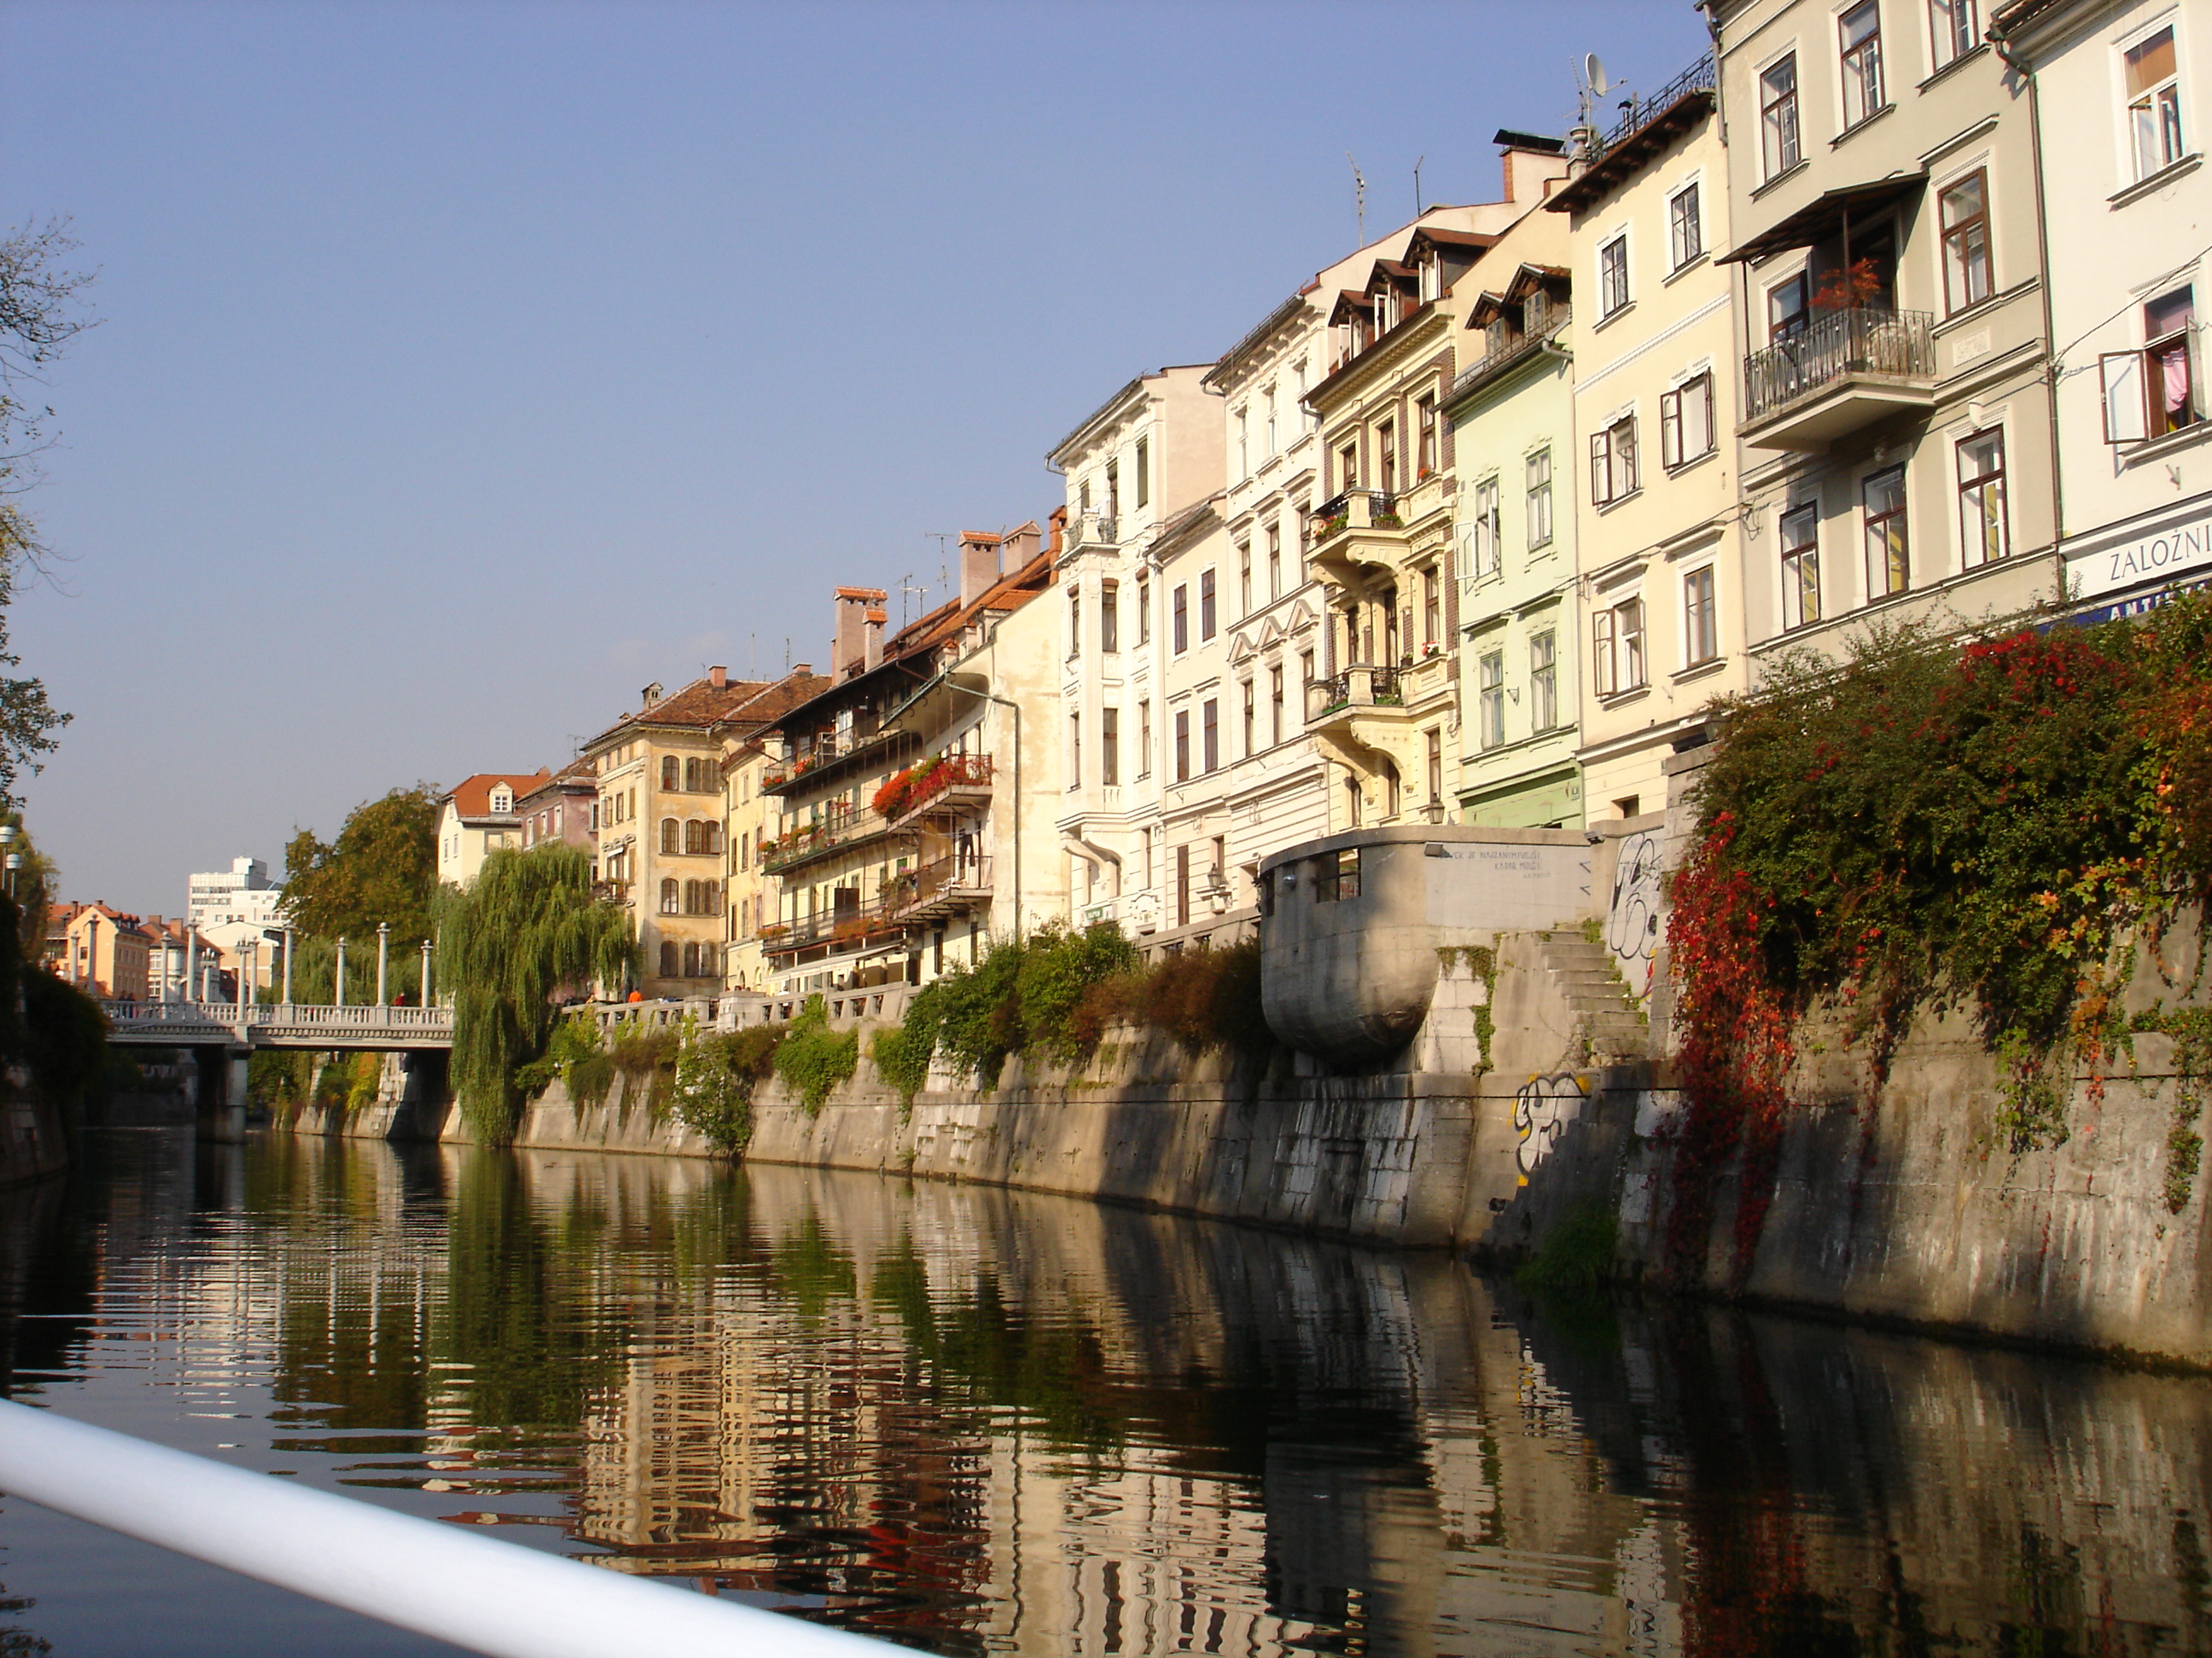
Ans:
[[[2201,1012],[2124,1017],[2121,993],[2135,942],[2212,873],[2212,601],[1964,646],[1889,630],[1840,665],[1785,657],[1721,716],[1668,924],[1688,1094],[1670,1260],[1701,1258],[1741,1158],[1747,1271],[1816,1004],[1845,1012],[1874,1088],[1918,1010],[1969,1010],[2011,1152],[2062,1141],[2075,1074],[2095,1085],[2132,1030],[2177,1035],[2183,1207],[2212,1041],[2190,1041]]]

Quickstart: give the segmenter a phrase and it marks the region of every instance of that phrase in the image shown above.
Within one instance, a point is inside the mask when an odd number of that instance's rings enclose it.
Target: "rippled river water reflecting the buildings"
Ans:
[[[91,1136],[18,1399],[945,1654],[2212,1651],[2212,1382],[1064,1198]],[[436,1643],[0,1499],[0,1654]]]

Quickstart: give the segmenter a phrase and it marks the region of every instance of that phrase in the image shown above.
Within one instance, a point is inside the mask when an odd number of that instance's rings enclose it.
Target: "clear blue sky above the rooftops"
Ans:
[[[646,681],[827,657],[830,588],[1057,504],[1044,451],[1354,241],[1498,195],[1690,0],[0,7],[0,206],[104,323],[15,648],[64,893],[177,913]]]

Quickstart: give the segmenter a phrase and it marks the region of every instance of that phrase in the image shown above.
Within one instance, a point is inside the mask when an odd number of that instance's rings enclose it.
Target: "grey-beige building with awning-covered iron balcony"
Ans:
[[[1969,38],[1973,9],[1955,0],[1708,11],[1754,661],[1783,643],[1843,654],[1878,621],[1962,630],[2051,599],[2026,80]]]

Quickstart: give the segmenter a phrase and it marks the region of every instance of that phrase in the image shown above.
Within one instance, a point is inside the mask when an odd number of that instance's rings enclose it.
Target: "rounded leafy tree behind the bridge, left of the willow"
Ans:
[[[418,946],[434,931],[438,898],[438,785],[363,800],[332,842],[301,829],[283,849],[283,867],[285,909],[301,933],[358,944],[389,922],[392,948]],[[352,957],[345,970],[352,979]]]

